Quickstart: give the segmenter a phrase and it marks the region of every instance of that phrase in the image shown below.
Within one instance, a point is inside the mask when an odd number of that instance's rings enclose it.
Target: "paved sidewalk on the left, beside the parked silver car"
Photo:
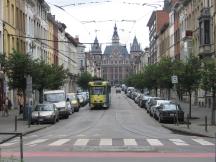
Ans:
[[[17,116],[17,130],[15,131],[15,116]],[[35,132],[37,130],[48,127],[49,125],[31,125],[28,126],[28,122],[22,120],[22,114],[19,115],[18,110],[13,109],[9,111],[8,117],[3,117],[0,111],[0,133],[23,133],[23,135]],[[10,138],[11,135],[1,135],[0,142],[3,139]]]

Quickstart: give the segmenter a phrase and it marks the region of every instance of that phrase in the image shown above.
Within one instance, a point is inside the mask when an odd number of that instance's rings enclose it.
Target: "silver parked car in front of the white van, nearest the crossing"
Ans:
[[[52,123],[59,121],[59,111],[55,104],[38,104],[31,114],[31,123]]]

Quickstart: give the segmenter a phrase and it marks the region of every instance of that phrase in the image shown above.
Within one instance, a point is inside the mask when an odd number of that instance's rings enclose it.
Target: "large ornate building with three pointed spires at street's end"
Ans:
[[[128,78],[129,75],[136,72],[137,61],[142,54],[140,45],[136,37],[130,47],[129,54],[125,45],[119,41],[117,26],[114,26],[112,43],[105,47],[102,54],[101,46],[97,37],[91,47],[90,55],[95,65],[95,71],[104,80],[110,81],[112,85],[120,84]]]

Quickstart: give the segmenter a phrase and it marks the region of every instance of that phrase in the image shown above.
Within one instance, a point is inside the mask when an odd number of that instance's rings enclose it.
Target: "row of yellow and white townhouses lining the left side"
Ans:
[[[85,46],[65,29],[45,0],[0,0],[0,54],[8,56],[15,49],[33,59],[63,65],[69,71],[64,88],[71,92],[76,90],[83,59],[79,55],[84,54]],[[5,95],[16,104],[16,92],[9,91],[0,67],[0,106]]]

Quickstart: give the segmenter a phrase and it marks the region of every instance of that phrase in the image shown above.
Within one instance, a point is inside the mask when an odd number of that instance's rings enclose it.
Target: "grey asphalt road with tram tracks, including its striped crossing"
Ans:
[[[123,92],[116,94],[114,88],[111,98],[109,109],[90,110],[86,105],[69,119],[24,136],[26,161],[157,161],[160,157],[213,161],[213,138],[180,135],[163,128]],[[18,154],[19,139],[1,148],[4,155]]]

